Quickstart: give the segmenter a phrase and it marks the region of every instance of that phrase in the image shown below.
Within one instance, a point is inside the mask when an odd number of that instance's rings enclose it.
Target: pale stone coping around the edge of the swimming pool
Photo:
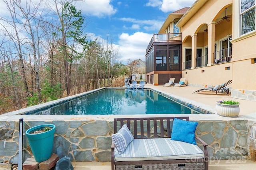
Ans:
[[[28,112],[32,112],[38,109],[42,109],[45,107],[52,107],[56,104],[60,104],[60,103],[64,103],[70,100],[74,100],[76,98],[79,98],[81,96],[84,95],[88,95],[94,92],[97,92],[99,90],[103,90],[105,88],[124,88],[125,87],[103,87],[103,88],[98,88],[95,90],[90,90],[88,92],[83,92],[80,94],[75,94],[72,96],[68,96],[65,98],[61,98],[58,100],[53,100],[50,102],[46,102],[43,104],[38,104],[35,106],[30,106],[30,107],[26,107],[23,109],[19,109],[16,111],[11,111],[8,113],[4,113],[1,115],[1,120],[19,120],[20,118],[26,119],[26,120],[32,120],[32,121],[42,121],[42,118],[44,118],[45,121],[52,121],[52,120],[99,120],[99,119],[109,119],[112,120],[115,117],[120,117],[120,115],[30,115],[30,114],[24,114],[24,113],[28,113]],[[179,102],[185,106],[188,107],[192,107],[194,110],[200,110],[203,111],[207,114],[190,114],[189,117],[191,117],[191,120],[241,120],[241,119],[245,119],[245,120],[253,120],[256,121],[256,113],[251,113],[249,115],[239,115],[238,117],[222,117],[220,115],[216,114],[216,109],[215,107],[212,106],[208,106],[206,104],[202,104],[200,102],[196,102],[194,100],[190,100],[181,96],[177,96],[162,90],[158,90],[156,88],[145,88],[145,89],[150,89],[154,92],[158,92],[160,94],[162,94],[163,96],[170,98],[176,102]],[[212,113],[212,114],[209,114]],[[141,115],[122,115],[122,117],[141,117]],[[144,117],[152,117],[153,115],[143,115]],[[156,114],[154,115],[156,117],[165,117],[165,116],[188,116],[187,114]]]

